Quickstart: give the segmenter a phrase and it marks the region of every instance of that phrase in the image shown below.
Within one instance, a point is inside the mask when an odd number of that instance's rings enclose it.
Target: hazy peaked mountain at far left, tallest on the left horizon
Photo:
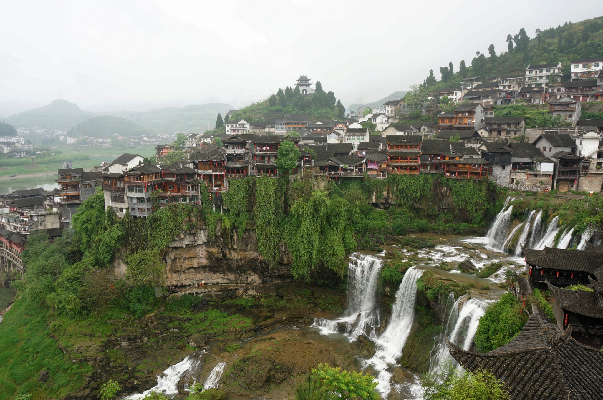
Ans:
[[[68,130],[92,116],[92,113],[81,110],[73,103],[66,100],[55,100],[44,107],[23,111],[19,115],[7,117],[4,120],[17,128],[41,127]]]

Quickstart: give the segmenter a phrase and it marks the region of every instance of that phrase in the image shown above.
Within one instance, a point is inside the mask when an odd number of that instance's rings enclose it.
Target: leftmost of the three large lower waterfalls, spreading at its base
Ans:
[[[364,334],[371,339],[377,337],[380,314],[376,306],[377,282],[383,260],[371,255],[353,253],[347,267],[347,308],[342,317],[329,320],[314,319],[312,327],[321,334],[337,333],[339,322],[346,323],[346,334],[354,342]]]

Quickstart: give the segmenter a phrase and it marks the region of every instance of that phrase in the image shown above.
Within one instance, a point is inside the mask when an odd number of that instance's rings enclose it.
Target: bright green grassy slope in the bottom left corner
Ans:
[[[39,386],[51,398],[74,393],[92,372],[86,363],[72,363],[69,354],[49,336],[47,311],[17,299],[0,324],[0,400],[32,393]],[[40,371],[48,381],[39,383]]]

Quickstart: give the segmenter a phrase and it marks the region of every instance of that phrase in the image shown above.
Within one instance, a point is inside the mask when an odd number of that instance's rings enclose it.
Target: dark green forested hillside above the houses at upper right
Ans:
[[[528,34],[532,29],[535,30],[534,33]],[[567,81],[573,60],[601,57],[603,54],[603,17],[576,23],[566,22],[563,26],[545,30],[530,27],[528,31],[521,28],[516,34],[508,34],[508,45],[502,53],[497,54],[494,45],[490,45],[488,49],[477,51],[470,64],[461,60],[457,68],[450,61],[446,66],[440,67],[440,81],[435,78],[434,70],[429,71],[423,84],[413,87],[412,92],[406,96],[406,102],[414,101],[414,96],[419,91],[427,93],[441,87],[460,87],[461,80],[467,77],[483,79],[494,75],[522,75],[528,64],[561,61],[561,80]]]

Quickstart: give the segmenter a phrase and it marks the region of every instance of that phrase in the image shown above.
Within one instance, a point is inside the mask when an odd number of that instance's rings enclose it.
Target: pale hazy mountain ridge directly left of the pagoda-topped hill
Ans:
[[[211,103],[187,105],[184,108],[156,108],[144,113],[120,111],[105,114],[125,117],[156,133],[171,134],[174,131],[204,132],[207,130],[208,123],[209,128],[213,129],[218,113],[224,118],[224,115],[230,110],[234,110],[234,107],[230,104]]]

